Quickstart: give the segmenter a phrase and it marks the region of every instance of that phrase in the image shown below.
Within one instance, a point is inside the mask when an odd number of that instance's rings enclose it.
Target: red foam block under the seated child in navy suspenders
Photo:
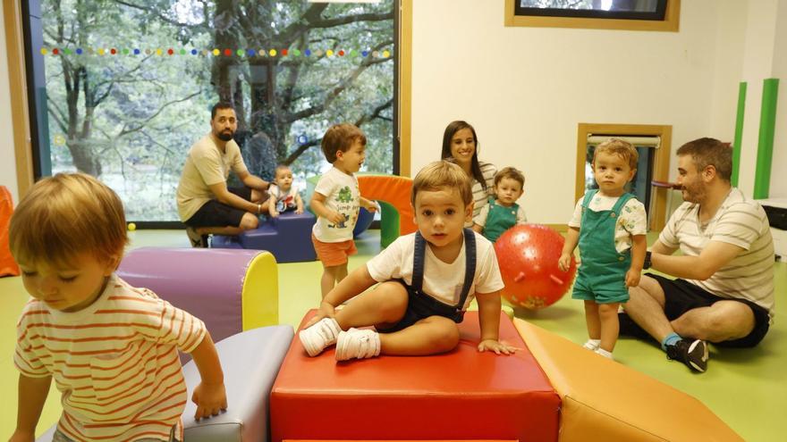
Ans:
[[[301,327],[314,311],[307,314]],[[272,440],[557,440],[560,399],[503,313],[512,356],[478,353],[478,313],[452,352],[336,363],[293,339],[271,392]]]

